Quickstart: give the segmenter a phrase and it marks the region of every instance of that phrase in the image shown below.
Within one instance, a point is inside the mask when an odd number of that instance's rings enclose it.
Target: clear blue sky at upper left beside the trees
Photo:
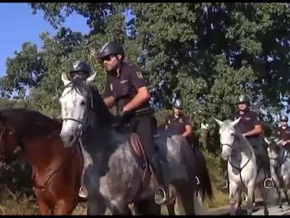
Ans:
[[[0,3],[0,27],[0,77],[6,74],[6,58],[13,57],[15,50],[20,51],[23,43],[29,41],[41,48],[39,35],[46,31],[55,34],[55,29],[44,20],[43,13],[38,11],[33,15],[27,3]],[[85,34],[89,32],[85,18],[77,14],[70,15],[64,27]]]

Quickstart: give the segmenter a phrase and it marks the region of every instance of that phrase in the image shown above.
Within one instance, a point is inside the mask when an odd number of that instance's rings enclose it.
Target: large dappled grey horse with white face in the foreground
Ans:
[[[154,201],[156,180],[146,170],[139,139],[132,132],[112,127],[116,117],[106,108],[97,88],[90,86],[95,75],[86,81],[68,81],[62,74],[65,88],[60,97],[64,146],[75,146],[79,139],[83,151],[88,214],[104,214],[106,207],[112,214],[126,214],[130,203],[139,214],[159,214],[160,205]],[[183,163],[190,147],[179,135],[159,135],[156,152],[162,160],[165,181],[174,185],[172,196],[179,199],[184,213],[195,214],[195,178]]]

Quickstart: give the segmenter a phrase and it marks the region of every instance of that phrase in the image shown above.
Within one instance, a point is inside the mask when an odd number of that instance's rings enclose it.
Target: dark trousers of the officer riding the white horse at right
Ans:
[[[248,141],[251,144],[251,146],[254,148],[254,150],[259,155],[261,155],[262,167],[263,167],[263,170],[265,171],[265,175],[267,177],[270,177],[270,158],[267,154],[266,149],[263,147],[263,144],[261,144],[258,138],[249,138]],[[227,178],[228,170],[224,171],[224,176]]]

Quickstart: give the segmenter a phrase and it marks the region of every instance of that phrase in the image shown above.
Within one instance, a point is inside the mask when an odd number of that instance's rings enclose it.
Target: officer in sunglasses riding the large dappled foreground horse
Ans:
[[[103,95],[107,107],[116,106],[116,113],[129,123],[141,141],[153,167],[160,187],[156,190],[156,203],[167,201],[167,191],[163,189],[163,172],[154,146],[153,111],[149,104],[150,94],[141,72],[124,61],[125,52],[120,43],[110,41],[98,51],[107,72],[106,87]]]

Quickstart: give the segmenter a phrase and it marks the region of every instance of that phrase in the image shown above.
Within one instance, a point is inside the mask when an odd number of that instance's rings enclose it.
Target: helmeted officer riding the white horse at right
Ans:
[[[259,121],[258,114],[249,110],[249,102],[247,96],[240,95],[237,100],[238,111],[233,114],[233,118],[237,119],[241,117],[240,122],[237,123],[237,128],[240,130],[242,135],[248,139],[254,150],[261,155],[262,167],[266,176],[264,186],[265,188],[270,189],[274,186],[270,175],[270,160],[267,151],[260,141],[260,135],[263,128],[261,121]],[[225,182],[226,186],[228,186],[228,181],[226,180]]]

